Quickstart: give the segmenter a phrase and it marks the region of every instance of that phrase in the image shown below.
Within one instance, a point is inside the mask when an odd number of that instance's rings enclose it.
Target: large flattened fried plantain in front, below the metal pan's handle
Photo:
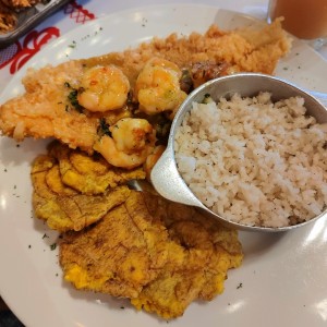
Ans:
[[[64,279],[77,289],[130,298],[169,319],[223,291],[242,262],[238,234],[194,208],[132,191],[125,203],[60,243]]]

